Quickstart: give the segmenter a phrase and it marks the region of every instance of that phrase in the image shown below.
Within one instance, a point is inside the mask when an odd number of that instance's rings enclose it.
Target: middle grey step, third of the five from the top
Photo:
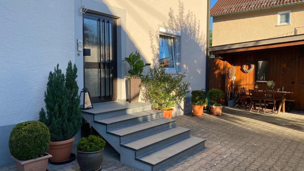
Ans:
[[[124,143],[174,126],[175,120],[162,117],[110,130],[107,133],[120,137],[120,143]]]

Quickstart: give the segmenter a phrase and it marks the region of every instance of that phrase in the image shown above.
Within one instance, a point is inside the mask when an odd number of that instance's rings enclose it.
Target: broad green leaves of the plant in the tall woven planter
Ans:
[[[151,65],[150,63],[144,64],[143,60],[140,59],[140,54],[133,54],[133,52],[129,55],[128,58],[125,58],[123,61],[128,62],[128,64],[130,65],[131,69],[128,71],[128,73],[131,74],[131,79],[139,79],[140,76],[142,76],[143,68],[145,66]]]

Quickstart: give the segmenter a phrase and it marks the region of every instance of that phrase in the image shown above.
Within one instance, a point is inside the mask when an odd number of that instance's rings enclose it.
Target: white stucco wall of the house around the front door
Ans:
[[[206,0],[82,0],[82,5],[119,17],[118,99],[127,98],[124,57],[138,50],[157,66],[159,27],[181,32],[181,72],[190,90],[205,88]],[[67,62],[75,62],[83,88],[83,56],[76,56],[80,6],[81,0],[0,0],[0,127],[38,119],[48,74],[57,63],[65,72]],[[182,114],[182,106],[174,112]]]

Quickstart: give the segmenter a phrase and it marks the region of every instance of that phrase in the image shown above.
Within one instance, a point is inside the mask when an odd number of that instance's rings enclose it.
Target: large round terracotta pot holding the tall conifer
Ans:
[[[52,155],[51,162],[65,162],[70,159],[72,144],[75,137],[64,141],[51,141],[47,153]]]

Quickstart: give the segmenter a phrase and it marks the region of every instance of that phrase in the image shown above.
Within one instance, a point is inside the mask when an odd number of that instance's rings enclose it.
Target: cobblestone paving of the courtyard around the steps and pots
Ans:
[[[161,169],[210,171],[304,171],[304,113],[254,113],[223,108],[222,116],[183,115],[178,126],[192,129],[191,135],[206,139],[198,150]],[[48,165],[50,171],[79,170],[76,161]],[[14,171],[15,165],[0,168]],[[102,171],[138,170],[106,158]]]

